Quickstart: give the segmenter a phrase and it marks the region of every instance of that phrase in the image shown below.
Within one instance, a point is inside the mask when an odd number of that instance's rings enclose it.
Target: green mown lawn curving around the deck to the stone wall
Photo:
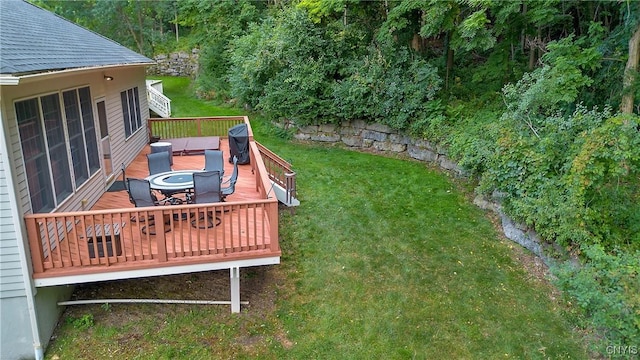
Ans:
[[[165,81],[174,116],[230,114],[188,95],[191,105],[178,105],[178,83],[188,89],[183,79]],[[294,215],[281,213],[282,263],[243,271],[241,286],[264,284],[267,304],[240,314],[76,308],[48,359],[588,357],[563,317],[566,305],[525,271],[516,257],[524,252],[499,236],[464,184],[417,161],[285,141],[258,116],[250,119],[256,139],[293,164],[302,202]],[[137,291],[151,284],[155,296],[179,296],[191,278],[177,279],[169,294],[153,280]],[[77,314],[92,321],[83,326]]]

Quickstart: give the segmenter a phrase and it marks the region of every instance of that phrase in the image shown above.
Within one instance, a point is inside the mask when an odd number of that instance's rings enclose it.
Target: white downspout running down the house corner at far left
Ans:
[[[3,112],[4,111],[0,111],[0,124],[5,123],[5,121],[3,120]],[[8,145],[8,141],[6,141],[7,137],[6,137],[4,125],[0,125],[0,140],[2,140],[0,141],[0,144],[2,146],[2,148],[0,148],[2,163],[6,164],[6,166],[10,166],[11,163],[9,162],[9,145]],[[7,175],[8,175],[6,176],[7,188],[15,189],[13,174],[11,172],[7,172]],[[14,219],[22,219],[22,214],[18,213],[18,198],[16,197],[15,191],[9,191],[9,194],[7,195],[8,195],[7,197],[9,198],[9,204],[10,204],[9,207],[11,208],[11,216]],[[42,360],[44,359],[44,349],[42,347],[42,342],[40,341],[38,315],[37,315],[37,309],[35,304],[35,296],[36,296],[37,290],[33,284],[33,279],[31,278],[31,271],[30,271],[31,267],[29,262],[29,256],[27,255],[28,252],[25,246],[25,241],[24,241],[25,239],[24,234],[26,234],[26,232],[24,231],[24,222],[20,221],[19,225],[14,224],[14,231],[16,233],[16,238],[18,239],[18,242],[19,242],[18,256],[20,257],[20,263],[22,264],[21,266],[22,279],[24,281],[24,289],[27,297],[27,307],[29,309],[29,321],[31,323],[31,333],[33,335],[33,350],[35,352],[35,359]]]

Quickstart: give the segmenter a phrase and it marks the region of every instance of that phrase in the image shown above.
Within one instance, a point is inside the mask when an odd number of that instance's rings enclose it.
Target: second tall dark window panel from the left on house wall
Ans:
[[[53,188],[56,202],[60,203],[73,192],[69,156],[65,143],[62,113],[60,111],[60,97],[58,94],[52,94],[41,97],[40,101],[47,134]]]

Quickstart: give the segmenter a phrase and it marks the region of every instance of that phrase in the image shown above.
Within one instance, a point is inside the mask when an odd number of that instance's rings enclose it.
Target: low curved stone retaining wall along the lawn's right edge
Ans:
[[[364,121],[352,121],[339,126],[331,124],[309,125],[298,127],[294,137],[298,140],[342,143],[352,148],[405,154],[413,159],[438,165],[456,176],[467,176],[463,168],[447,157],[445,148],[428,140],[414,139],[386,125],[367,124]],[[498,200],[479,195],[474,200],[474,204],[498,214],[502,223],[502,231],[508,239],[533,252],[547,266],[551,265],[552,258],[545,255],[551,245],[540,239],[533,229],[529,229],[505,215]]]

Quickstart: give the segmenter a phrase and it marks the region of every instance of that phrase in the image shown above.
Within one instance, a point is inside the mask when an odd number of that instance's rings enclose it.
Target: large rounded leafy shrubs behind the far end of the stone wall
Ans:
[[[293,8],[261,23],[231,44],[231,94],[298,125],[360,118],[406,129],[425,116],[440,88],[435,67],[407,49],[376,46],[345,62],[346,40],[330,35]]]

